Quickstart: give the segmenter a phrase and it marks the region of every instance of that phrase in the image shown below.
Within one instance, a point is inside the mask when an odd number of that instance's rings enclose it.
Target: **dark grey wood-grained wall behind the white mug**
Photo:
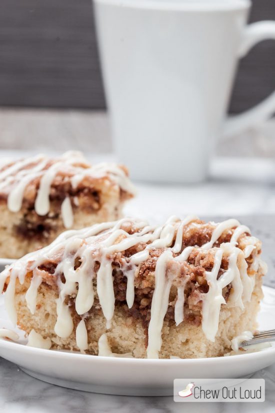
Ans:
[[[250,21],[275,20],[275,0],[253,0]],[[230,111],[275,88],[275,42],[240,64]],[[90,0],[0,0],[0,106],[104,109]]]

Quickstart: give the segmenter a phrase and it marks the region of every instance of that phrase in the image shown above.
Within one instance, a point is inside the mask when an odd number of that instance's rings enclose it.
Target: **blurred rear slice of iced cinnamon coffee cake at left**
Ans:
[[[127,170],[79,152],[0,162],[0,257],[19,258],[66,228],[120,218],[134,193]]]

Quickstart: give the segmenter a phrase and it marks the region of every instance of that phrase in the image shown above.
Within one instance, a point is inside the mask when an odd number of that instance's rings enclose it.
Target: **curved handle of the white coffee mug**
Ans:
[[[244,29],[244,36],[238,57],[244,57],[249,50],[262,40],[275,40],[275,21],[256,22]],[[239,115],[229,116],[223,125],[222,137],[228,138],[240,133],[247,127],[258,125],[260,122],[271,117],[275,112],[275,91],[262,102]]]

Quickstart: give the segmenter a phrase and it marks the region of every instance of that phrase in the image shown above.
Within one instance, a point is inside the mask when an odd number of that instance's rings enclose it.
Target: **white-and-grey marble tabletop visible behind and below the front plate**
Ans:
[[[136,186],[138,197],[126,206],[127,215],[151,221],[161,221],[171,213],[180,216],[192,213],[213,219],[242,216],[264,240],[271,272],[274,269],[275,163],[272,160],[219,158],[213,162],[210,178],[205,183],[192,186],[137,183]],[[273,282],[271,273],[269,284]],[[275,364],[261,370],[257,376],[269,378],[264,403],[191,403],[185,411],[248,413],[261,409],[271,413],[275,402]],[[2,358],[0,382],[1,413],[170,413],[183,410],[182,404],[175,403],[172,397],[110,396],[57,387],[26,375]]]

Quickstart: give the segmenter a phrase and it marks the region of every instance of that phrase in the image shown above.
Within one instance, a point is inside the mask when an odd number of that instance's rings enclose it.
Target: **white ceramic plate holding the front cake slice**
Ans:
[[[259,328],[275,327],[275,289],[263,287]],[[0,327],[10,328],[0,297]],[[275,345],[254,353],[200,359],[112,358],[44,350],[0,339],[0,356],[33,377],[96,393],[172,395],[174,378],[244,377],[275,362]]]

